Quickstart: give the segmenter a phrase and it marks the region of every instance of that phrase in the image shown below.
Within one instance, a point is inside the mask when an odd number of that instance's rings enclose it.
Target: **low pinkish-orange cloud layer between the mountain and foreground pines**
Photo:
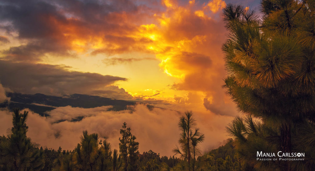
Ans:
[[[29,113],[27,125],[29,136],[33,142],[48,148],[72,150],[79,142],[83,130],[89,133],[98,133],[100,137],[106,138],[112,148],[118,149],[119,129],[123,122],[131,127],[131,132],[139,141],[139,151],[153,150],[161,155],[173,155],[172,149],[179,138],[177,123],[179,114],[176,111],[153,108],[149,110],[145,105],[137,105],[133,109],[125,111],[106,111],[108,107],[97,107],[91,109],[72,108],[70,106],[59,107],[49,112],[50,117],[41,117],[36,113]],[[64,121],[77,116],[85,116],[82,121]],[[6,135],[7,128],[12,127],[12,115],[7,111],[0,111],[0,134]],[[217,117],[215,115],[195,114],[195,118],[203,133],[206,133],[205,142],[201,144],[203,150],[217,147],[226,139],[224,125],[232,117]]]

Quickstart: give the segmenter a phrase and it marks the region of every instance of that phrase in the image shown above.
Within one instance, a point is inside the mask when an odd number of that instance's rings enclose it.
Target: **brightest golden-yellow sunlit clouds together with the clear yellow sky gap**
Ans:
[[[203,32],[189,30],[190,27],[194,27],[189,22],[194,20],[201,22],[201,19],[202,22],[209,22],[211,21],[207,15],[209,9],[215,13],[226,4],[223,0],[209,1],[202,7],[196,7],[195,0],[190,0],[186,6],[180,6],[173,0],[162,0],[162,4],[166,10],[153,14],[152,22],[139,24],[132,27],[133,29],[113,30],[111,33],[93,32],[89,28],[78,27],[74,24],[73,18],[68,18],[69,22],[62,23],[51,18],[51,22],[56,23],[64,36],[64,45],[77,52],[79,57],[58,61],[54,60],[54,57],[47,57],[45,62],[72,66],[74,70],[83,72],[125,77],[128,81],[120,81],[119,87],[126,89],[133,97],[148,99],[154,96],[155,99],[173,101],[174,94],[185,96],[186,91],[175,91],[170,88],[174,83],[184,81],[186,76],[195,72],[198,67],[190,61],[193,59],[187,58],[184,54],[208,53],[207,48],[201,51],[198,48],[211,39],[207,37],[207,30]],[[133,21],[129,21],[131,19],[125,13],[111,15],[112,18],[123,20],[125,25],[134,26]],[[197,31],[198,29],[203,28],[197,28]],[[95,53],[96,55],[91,53],[94,51],[100,53]],[[132,65],[118,63],[115,66],[107,66],[101,62],[104,58],[140,59],[148,56],[156,57],[158,60],[136,60]],[[166,87],[167,85],[169,87]]]

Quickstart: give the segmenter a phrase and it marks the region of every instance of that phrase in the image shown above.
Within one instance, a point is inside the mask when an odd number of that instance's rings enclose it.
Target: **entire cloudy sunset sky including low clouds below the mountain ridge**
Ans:
[[[239,115],[222,89],[227,32],[221,12],[228,3],[259,10],[258,0],[1,0],[0,101],[9,91],[80,93],[163,108],[139,104],[130,114],[67,106],[49,118],[30,111],[28,136],[49,148],[73,149],[84,129],[117,148],[126,121],[140,152],[171,155],[186,110],[205,134],[202,149],[216,148],[228,138],[226,124]],[[89,117],[54,124],[80,113]],[[1,114],[5,134],[11,118],[8,111]]]

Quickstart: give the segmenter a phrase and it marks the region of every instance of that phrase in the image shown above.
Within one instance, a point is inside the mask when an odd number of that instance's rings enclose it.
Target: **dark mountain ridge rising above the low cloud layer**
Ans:
[[[21,94],[9,92],[10,102],[0,103],[0,107],[25,109],[28,108],[41,116],[47,116],[46,112],[56,107],[72,106],[80,108],[95,108],[100,106],[113,106],[109,110],[119,111],[127,109],[128,105],[135,105],[135,102],[116,100],[100,96],[84,94],[72,94],[70,96],[58,97],[44,94]]]

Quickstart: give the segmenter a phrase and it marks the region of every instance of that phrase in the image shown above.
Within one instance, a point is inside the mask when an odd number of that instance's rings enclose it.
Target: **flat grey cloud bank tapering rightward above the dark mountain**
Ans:
[[[100,90],[126,78],[69,71],[67,67],[0,60],[0,81],[14,92],[64,95]],[[114,90],[114,89],[113,89]]]

